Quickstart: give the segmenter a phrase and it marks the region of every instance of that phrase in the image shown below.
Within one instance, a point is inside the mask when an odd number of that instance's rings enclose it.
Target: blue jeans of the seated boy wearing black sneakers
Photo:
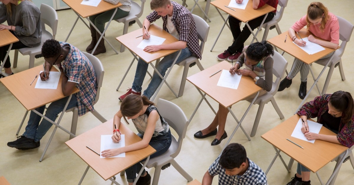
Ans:
[[[64,97],[60,100],[52,102],[48,108],[47,111],[45,112],[45,116],[55,122],[55,120],[58,117],[58,114],[63,111],[63,108],[68,101],[69,96]],[[76,101],[76,95],[73,94],[67,110],[70,108],[73,108],[75,106],[78,106],[78,102]],[[39,113],[43,114],[45,110],[45,105],[38,107],[35,109]],[[43,119],[41,124],[39,124],[40,120],[42,119],[41,116],[36,114],[35,112],[31,111],[29,120],[26,126],[26,130],[23,133],[23,136],[26,138],[34,139],[35,142],[38,142],[39,140],[42,139],[42,137],[47,133],[47,131],[50,129],[50,127],[53,125],[52,123],[48,122],[46,119]]]

